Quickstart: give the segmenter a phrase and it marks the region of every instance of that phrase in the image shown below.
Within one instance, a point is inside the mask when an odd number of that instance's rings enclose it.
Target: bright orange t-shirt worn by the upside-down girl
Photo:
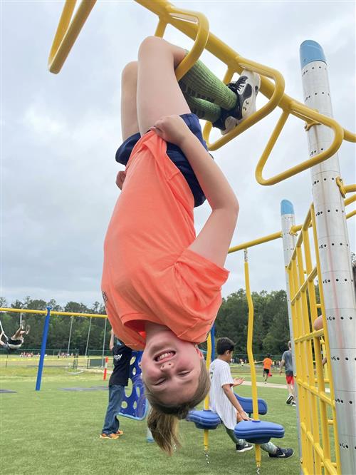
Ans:
[[[105,237],[105,307],[115,334],[133,349],[145,347],[146,321],[203,342],[229,275],[188,249],[194,198],[166,150],[153,131],[137,142]]]

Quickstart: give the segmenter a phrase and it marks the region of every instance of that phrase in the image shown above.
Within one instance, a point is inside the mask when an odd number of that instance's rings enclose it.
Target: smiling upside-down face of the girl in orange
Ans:
[[[141,360],[143,380],[161,404],[182,404],[197,391],[202,357],[193,343],[162,327],[147,338]]]

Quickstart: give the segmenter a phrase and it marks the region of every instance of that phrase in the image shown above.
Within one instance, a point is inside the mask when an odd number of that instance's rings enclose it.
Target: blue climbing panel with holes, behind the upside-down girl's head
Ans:
[[[130,376],[132,382],[131,394],[125,393],[122,399],[120,416],[129,417],[137,421],[145,419],[147,414],[147,401],[145,398],[145,387],[142,381],[142,372],[139,363],[142,358],[142,352],[132,352],[130,362]]]

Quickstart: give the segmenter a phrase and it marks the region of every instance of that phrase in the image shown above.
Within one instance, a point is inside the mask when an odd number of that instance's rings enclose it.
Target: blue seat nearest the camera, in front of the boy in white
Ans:
[[[266,444],[271,437],[281,439],[284,436],[284,427],[274,422],[241,421],[236,424],[234,434],[238,439],[245,439],[252,444]]]

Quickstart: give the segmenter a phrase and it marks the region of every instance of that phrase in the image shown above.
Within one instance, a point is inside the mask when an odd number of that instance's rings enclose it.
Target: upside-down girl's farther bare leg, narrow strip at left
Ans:
[[[139,131],[137,122],[137,61],[128,63],[121,76],[121,133],[122,140]]]

